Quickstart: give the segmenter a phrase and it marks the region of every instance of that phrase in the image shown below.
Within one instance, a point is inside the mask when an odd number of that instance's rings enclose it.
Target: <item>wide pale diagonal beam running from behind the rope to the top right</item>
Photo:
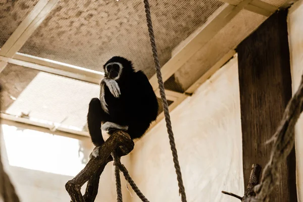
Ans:
[[[188,61],[203,45],[218,33],[233,17],[235,17],[251,0],[244,0],[237,6],[226,6],[204,29],[197,33],[184,47],[176,53],[162,68],[162,77],[166,81],[182,65]],[[158,88],[156,74],[149,79],[154,90]]]

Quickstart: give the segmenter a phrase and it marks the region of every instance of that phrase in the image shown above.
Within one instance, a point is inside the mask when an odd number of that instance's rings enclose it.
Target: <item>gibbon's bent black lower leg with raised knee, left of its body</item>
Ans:
[[[92,98],[88,107],[87,125],[91,141],[95,146],[101,146],[104,143],[101,132],[101,122],[104,120],[105,112],[101,107],[98,98]]]

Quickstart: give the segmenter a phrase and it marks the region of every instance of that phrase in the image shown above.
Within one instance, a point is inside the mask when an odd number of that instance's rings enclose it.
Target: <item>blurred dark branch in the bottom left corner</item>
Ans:
[[[0,85],[1,93],[1,85]],[[1,111],[1,102],[0,102],[0,111]],[[1,148],[0,148],[1,149]],[[5,172],[0,150],[0,200],[4,202],[19,202],[19,197],[16,193],[15,187],[10,180],[10,177]]]

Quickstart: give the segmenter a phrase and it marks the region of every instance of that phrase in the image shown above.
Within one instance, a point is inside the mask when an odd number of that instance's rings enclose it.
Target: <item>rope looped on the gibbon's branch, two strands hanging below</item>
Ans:
[[[120,170],[123,173],[125,180],[130,184],[131,188],[134,190],[134,192],[137,194],[137,196],[139,196],[139,198],[143,202],[149,202],[147,200],[147,198],[143,195],[143,193],[139,190],[139,188],[137,187],[135,182],[132,180],[132,178],[130,177],[127,169],[121,163],[120,158],[116,154],[113,154],[112,157],[114,159],[115,174],[116,174],[116,169],[118,170],[118,176],[116,175],[116,182],[117,182],[117,178],[119,178],[119,181],[120,181],[120,172],[119,172],[119,170]],[[117,183],[116,183],[116,185],[117,185]],[[117,185],[117,193],[118,193],[118,188],[119,187]],[[121,182],[120,182],[120,191],[121,191]],[[118,197],[118,201],[119,201],[119,197]],[[121,201],[122,201],[122,192],[121,192]]]

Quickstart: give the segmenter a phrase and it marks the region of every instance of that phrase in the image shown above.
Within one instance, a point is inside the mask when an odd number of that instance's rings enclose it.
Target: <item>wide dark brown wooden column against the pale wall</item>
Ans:
[[[248,183],[252,164],[262,168],[270,158],[271,144],[291,98],[291,76],[287,35],[287,11],[267,19],[237,47],[243,141],[243,171]],[[295,202],[295,153],[280,169],[273,202]]]

